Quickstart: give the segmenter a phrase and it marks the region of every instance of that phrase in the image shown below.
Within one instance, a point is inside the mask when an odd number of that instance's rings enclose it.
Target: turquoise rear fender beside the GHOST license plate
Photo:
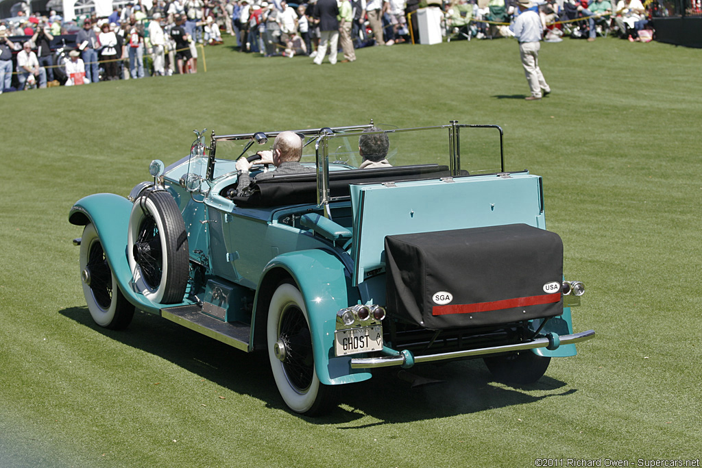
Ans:
[[[334,356],[336,312],[359,300],[357,290],[351,286],[350,272],[345,271],[343,263],[326,250],[284,253],[266,265],[262,281],[269,272],[281,268],[293,277],[304,297],[312,333],[314,369],[319,381],[325,385],[339,385],[371,378],[368,370],[351,368],[350,356]]]

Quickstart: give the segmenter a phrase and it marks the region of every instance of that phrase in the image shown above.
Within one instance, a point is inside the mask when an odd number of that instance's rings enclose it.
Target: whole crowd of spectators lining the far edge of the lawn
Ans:
[[[508,25],[518,14],[515,1],[444,0],[437,5],[443,9],[442,32],[459,39],[510,36]],[[115,7],[107,18],[93,15],[77,22],[64,22],[53,11],[20,15],[18,21],[0,23],[0,93],[11,88],[13,71],[19,89],[195,73],[197,46],[222,44],[222,31],[236,37],[243,53],[307,55],[321,64],[327,49],[329,61],[336,63],[340,47],[341,62],[353,62],[357,48],[418,41],[419,2],[307,0],[293,8],[287,0],[156,0],[147,9],[138,0]],[[641,0],[618,0],[614,8],[610,0],[534,4],[546,41],[559,41],[564,32],[594,41],[612,30],[637,41],[648,27]],[[52,51],[51,41],[60,34],[76,34],[77,50]],[[23,36],[22,44],[11,36]]]

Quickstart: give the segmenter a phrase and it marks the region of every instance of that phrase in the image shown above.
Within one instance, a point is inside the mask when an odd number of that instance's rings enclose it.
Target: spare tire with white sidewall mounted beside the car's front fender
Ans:
[[[135,287],[152,302],[183,302],[188,253],[185,222],[173,196],[163,190],[140,195],[129,216],[127,239]]]

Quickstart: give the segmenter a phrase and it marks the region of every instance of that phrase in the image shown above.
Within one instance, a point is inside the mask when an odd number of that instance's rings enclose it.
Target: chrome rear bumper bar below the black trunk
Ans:
[[[557,337],[557,344],[559,345],[574,345],[575,343],[591,340],[595,337],[595,330],[583,331],[581,333],[574,333],[573,335],[562,335]],[[402,352],[397,352],[397,354],[392,354],[390,356],[378,356],[371,358],[352,358],[351,368],[354,369],[366,369],[366,368],[378,368],[378,367],[391,367],[391,366],[402,366],[408,368],[417,363],[431,362],[431,361],[443,361],[444,359],[456,359],[465,358],[472,356],[480,356],[482,354],[497,354],[504,352],[514,352],[523,351],[524,349],[535,349],[535,348],[546,348],[551,347],[555,349],[555,340],[549,338],[537,338],[536,340],[531,340],[524,343],[517,343],[516,345],[504,345],[504,346],[494,346],[489,348],[478,348],[478,349],[466,349],[465,351],[456,351],[443,354],[425,354],[423,356],[414,356],[412,352],[408,350],[403,350]]]

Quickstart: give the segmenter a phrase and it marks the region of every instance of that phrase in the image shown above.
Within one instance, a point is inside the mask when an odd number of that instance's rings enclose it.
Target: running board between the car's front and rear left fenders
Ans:
[[[214,338],[242,351],[249,351],[251,326],[241,322],[224,322],[202,313],[199,305],[161,309],[161,316],[202,335]]]

